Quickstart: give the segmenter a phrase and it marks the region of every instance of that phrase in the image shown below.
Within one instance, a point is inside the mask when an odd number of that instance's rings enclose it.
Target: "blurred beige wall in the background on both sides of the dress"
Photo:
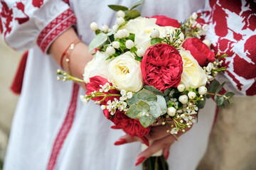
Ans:
[[[18,101],[9,86],[21,55],[22,52],[14,52],[0,38],[0,169]],[[208,150],[198,166],[198,170],[229,169],[256,169],[256,96],[234,98],[233,106],[220,109]]]

